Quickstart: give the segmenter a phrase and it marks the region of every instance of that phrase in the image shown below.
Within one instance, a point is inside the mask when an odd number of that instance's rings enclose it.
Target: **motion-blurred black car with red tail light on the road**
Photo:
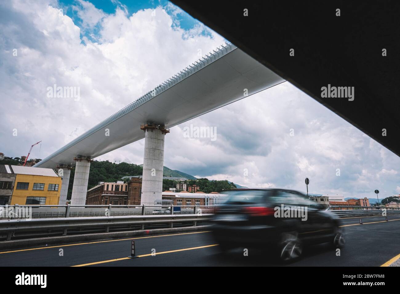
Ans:
[[[265,248],[280,260],[301,256],[303,246],[344,245],[340,219],[304,194],[284,189],[237,189],[216,208],[212,232],[222,250]]]

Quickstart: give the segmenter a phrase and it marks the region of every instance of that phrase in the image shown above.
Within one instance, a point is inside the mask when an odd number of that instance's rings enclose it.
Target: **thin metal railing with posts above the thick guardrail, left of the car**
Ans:
[[[179,207],[179,211],[174,211]],[[164,215],[214,213],[215,206],[174,205],[10,205],[0,206],[2,220],[23,218],[99,217],[129,215]],[[27,214],[29,217],[27,217]]]

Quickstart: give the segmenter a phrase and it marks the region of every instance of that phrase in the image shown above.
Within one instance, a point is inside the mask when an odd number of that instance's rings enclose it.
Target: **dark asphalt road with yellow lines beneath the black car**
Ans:
[[[400,257],[400,216],[342,219],[346,246],[340,256],[328,244],[308,247],[288,266],[381,266]],[[131,240],[136,255],[128,258]],[[1,266],[277,266],[265,250],[237,248],[222,254],[210,232],[188,232],[20,248],[0,252]],[[62,254],[61,254],[62,253]],[[152,253],[155,253],[152,256]],[[396,257],[397,256],[397,257]],[[390,261],[390,262],[389,262]],[[392,265],[398,264],[398,262]]]

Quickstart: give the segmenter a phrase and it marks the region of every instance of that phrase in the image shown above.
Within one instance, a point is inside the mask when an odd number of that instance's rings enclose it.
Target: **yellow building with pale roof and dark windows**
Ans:
[[[11,167],[16,174],[11,205],[58,204],[62,179],[54,170],[15,165]]]

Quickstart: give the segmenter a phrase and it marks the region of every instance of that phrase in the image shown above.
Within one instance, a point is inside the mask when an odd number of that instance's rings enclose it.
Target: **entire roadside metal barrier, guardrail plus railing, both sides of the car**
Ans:
[[[12,209],[26,207],[38,210],[44,209],[45,213],[49,211],[52,213],[51,216],[48,215],[44,218],[41,214],[38,214],[38,218],[0,220],[0,241],[151,228],[173,228],[174,226],[196,226],[197,222],[208,222],[215,209],[215,206],[180,206],[180,214],[176,214],[177,212],[174,211],[173,205],[15,205],[12,206]],[[353,209],[330,209],[341,207]],[[339,217],[380,215],[384,211],[384,209],[372,208],[374,207],[331,206],[326,210]],[[79,215],[80,212],[83,212],[82,216]],[[96,212],[99,212],[99,214],[96,215]],[[386,214],[400,214],[400,210],[386,209]]]

